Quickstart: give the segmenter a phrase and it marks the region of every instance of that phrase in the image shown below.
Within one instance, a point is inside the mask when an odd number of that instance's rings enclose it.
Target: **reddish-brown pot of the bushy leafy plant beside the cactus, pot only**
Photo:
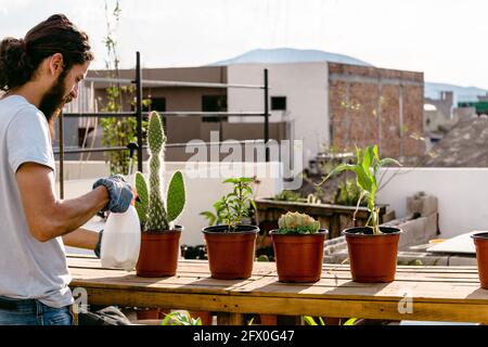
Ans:
[[[253,272],[256,237],[259,228],[237,226],[227,232],[228,226],[207,227],[202,230],[207,244],[208,266],[214,279],[248,279]]]

